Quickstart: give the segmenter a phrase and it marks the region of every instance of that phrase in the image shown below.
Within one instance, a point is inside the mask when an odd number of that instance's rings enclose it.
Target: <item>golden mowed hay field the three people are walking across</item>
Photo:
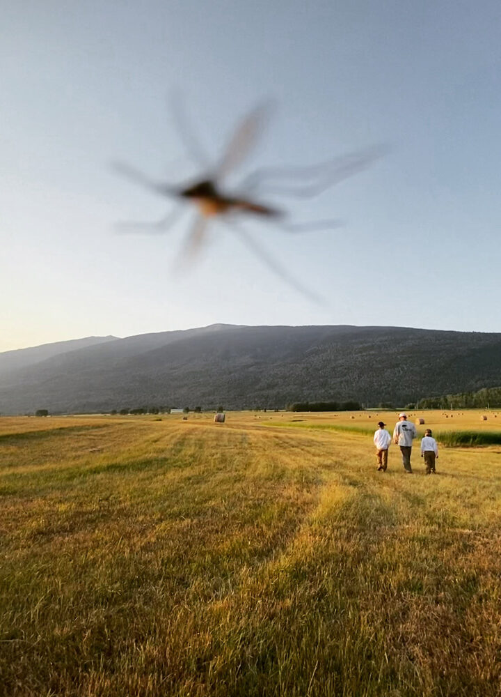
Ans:
[[[351,415],[0,418],[0,694],[500,695],[501,447]]]

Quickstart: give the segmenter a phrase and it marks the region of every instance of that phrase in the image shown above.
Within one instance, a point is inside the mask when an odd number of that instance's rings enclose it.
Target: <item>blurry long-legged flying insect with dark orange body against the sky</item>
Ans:
[[[294,277],[287,273],[287,270],[282,268],[256,243],[254,236],[241,226],[241,220],[244,217],[260,217],[288,233],[340,227],[339,220],[318,220],[299,224],[288,222],[285,210],[264,203],[261,197],[264,193],[295,198],[314,197],[324,192],[328,187],[368,167],[369,164],[383,155],[384,149],[381,147],[367,148],[365,151],[344,155],[310,167],[262,167],[248,174],[234,192],[230,192],[225,190],[221,183],[226,176],[239,167],[255,145],[267,116],[267,107],[258,106],[239,121],[223,156],[215,166],[211,166],[209,159],[206,158],[193,136],[179,104],[180,102],[177,100],[173,101],[172,105],[177,128],[191,159],[202,167],[203,174],[184,184],[171,185],[154,181],[128,164],[115,163],[116,171],[156,194],[180,201],[188,201],[196,208],[198,215],[186,237],[182,258],[193,258],[200,251],[206,240],[209,221],[216,218],[229,224],[250,251],[289,285],[303,295],[319,300],[315,293],[297,282]],[[162,233],[174,224],[182,212],[183,208],[179,206],[156,222],[122,223],[120,229],[122,231]]]

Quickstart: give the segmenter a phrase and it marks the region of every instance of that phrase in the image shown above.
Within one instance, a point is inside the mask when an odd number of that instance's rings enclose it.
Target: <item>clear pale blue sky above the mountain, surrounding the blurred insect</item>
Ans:
[[[495,0],[19,0],[0,26],[0,351],[211,323],[501,332],[501,5]],[[377,144],[388,155],[314,199],[264,196],[295,222],[248,233],[315,304],[214,222],[118,234],[173,201],[113,160],[182,182],[167,95],[214,160],[260,100],[272,116],[228,182]]]

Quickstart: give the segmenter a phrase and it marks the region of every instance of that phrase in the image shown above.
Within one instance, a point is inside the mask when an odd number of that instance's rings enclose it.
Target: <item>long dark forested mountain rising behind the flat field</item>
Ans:
[[[3,414],[349,400],[401,406],[496,385],[501,334],[478,332],[211,325],[0,353]]]

